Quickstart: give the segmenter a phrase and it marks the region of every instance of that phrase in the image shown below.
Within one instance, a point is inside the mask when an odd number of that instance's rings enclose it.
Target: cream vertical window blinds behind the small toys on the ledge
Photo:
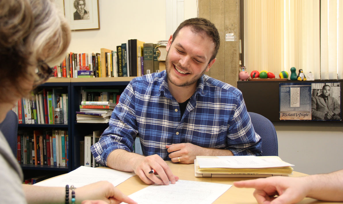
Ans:
[[[244,66],[343,79],[343,0],[244,0]]]

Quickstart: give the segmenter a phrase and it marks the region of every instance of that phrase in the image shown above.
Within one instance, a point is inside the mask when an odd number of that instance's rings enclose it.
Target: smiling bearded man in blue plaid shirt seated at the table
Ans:
[[[147,184],[168,185],[178,177],[164,160],[193,163],[196,156],[260,156],[261,138],[241,92],[204,75],[219,45],[210,21],[182,22],[166,47],[166,71],[133,79],[121,94],[109,127],[91,147],[96,161],[134,171]],[[137,135],[144,156],[132,153]],[[149,173],[152,169],[161,179]]]

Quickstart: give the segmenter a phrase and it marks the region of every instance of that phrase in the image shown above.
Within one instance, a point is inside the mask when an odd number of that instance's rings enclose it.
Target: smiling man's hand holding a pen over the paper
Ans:
[[[159,178],[155,174],[149,173],[152,169],[156,171]],[[171,172],[167,163],[158,155],[142,157],[134,164],[133,170],[146,184],[169,185],[169,181],[175,184],[179,180],[179,177]]]

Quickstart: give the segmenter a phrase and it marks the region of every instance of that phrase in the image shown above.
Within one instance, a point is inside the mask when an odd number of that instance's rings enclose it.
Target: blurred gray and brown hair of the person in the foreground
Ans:
[[[70,35],[66,19],[51,0],[0,1],[0,101],[8,101],[10,94],[27,94],[18,84],[32,79],[39,60],[50,66],[60,63]]]

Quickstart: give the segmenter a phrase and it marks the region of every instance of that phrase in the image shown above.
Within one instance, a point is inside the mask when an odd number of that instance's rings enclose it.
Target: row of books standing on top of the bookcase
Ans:
[[[100,53],[69,53],[55,66],[54,77],[137,77],[159,72],[159,61],[166,59],[166,42],[145,43],[129,39],[115,50],[100,48]],[[163,65],[163,63],[162,63]]]

